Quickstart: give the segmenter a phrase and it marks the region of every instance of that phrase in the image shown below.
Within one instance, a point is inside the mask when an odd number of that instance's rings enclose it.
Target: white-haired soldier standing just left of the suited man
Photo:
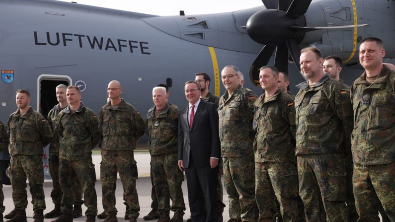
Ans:
[[[151,154],[152,179],[158,200],[158,222],[170,222],[169,211],[174,211],[174,222],[182,222],[185,211],[181,184],[183,173],[177,167],[177,133],[179,109],[167,103],[164,87],[153,89],[155,106],[147,113],[148,148]],[[172,206],[169,206],[171,197]]]

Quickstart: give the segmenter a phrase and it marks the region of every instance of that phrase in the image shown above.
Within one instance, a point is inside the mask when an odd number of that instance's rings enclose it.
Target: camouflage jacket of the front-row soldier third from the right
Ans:
[[[264,98],[265,94],[254,103],[255,162],[295,162],[294,100],[281,89],[268,101]]]

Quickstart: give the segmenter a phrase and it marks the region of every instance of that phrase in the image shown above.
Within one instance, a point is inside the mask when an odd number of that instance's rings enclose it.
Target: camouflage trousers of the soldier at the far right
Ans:
[[[380,202],[395,222],[395,162],[363,166],[354,164],[352,178],[358,222],[379,222]]]

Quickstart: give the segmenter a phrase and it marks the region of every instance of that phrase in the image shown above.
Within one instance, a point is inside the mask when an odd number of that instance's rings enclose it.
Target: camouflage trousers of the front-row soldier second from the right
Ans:
[[[299,155],[297,159],[306,220],[324,222],[326,212],[327,222],[348,222],[343,154]]]

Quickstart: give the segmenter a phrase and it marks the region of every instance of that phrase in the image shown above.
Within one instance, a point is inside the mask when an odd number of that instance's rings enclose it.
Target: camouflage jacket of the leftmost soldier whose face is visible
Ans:
[[[48,121],[31,107],[23,116],[19,115],[19,109],[9,116],[7,135],[11,156],[42,155],[53,136]]]

